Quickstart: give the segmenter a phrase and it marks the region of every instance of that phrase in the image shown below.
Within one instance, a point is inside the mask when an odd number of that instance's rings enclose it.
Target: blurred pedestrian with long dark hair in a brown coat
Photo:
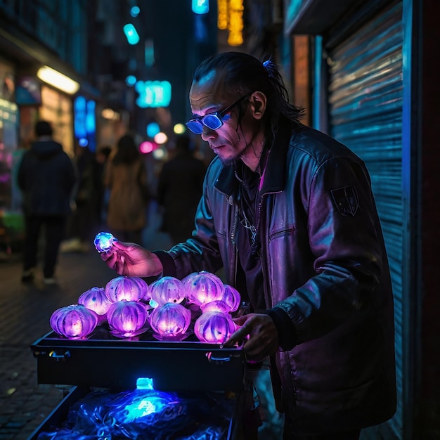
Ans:
[[[110,232],[119,240],[142,242],[150,195],[145,164],[133,136],[125,134],[117,141],[115,155],[110,156],[105,169],[104,185],[110,190]]]

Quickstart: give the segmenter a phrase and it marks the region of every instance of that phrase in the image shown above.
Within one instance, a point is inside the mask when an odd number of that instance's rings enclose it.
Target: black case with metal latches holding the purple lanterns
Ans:
[[[134,389],[139,377],[149,377],[153,387],[162,391],[240,392],[244,388],[246,362],[238,347],[190,340],[115,339],[108,332],[74,340],[49,332],[31,349],[37,358],[39,384]]]

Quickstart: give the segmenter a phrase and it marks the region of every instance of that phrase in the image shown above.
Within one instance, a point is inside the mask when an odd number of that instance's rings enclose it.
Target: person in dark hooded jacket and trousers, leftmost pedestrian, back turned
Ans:
[[[18,186],[22,190],[25,216],[22,282],[34,280],[39,236],[44,228],[44,283],[54,284],[58,250],[71,213],[70,199],[76,175],[63,146],[52,138],[51,124],[37,122],[35,135],[37,140],[23,155],[18,169]]]

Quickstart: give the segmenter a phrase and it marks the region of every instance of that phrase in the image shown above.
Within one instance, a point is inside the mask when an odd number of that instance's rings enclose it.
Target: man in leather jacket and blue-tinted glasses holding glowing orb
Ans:
[[[127,276],[224,267],[252,313],[227,344],[271,360],[284,439],[358,439],[396,410],[392,287],[370,178],[347,147],[299,123],[271,61],[205,60],[188,128],[217,157],[193,238],[168,252],[116,242]]]

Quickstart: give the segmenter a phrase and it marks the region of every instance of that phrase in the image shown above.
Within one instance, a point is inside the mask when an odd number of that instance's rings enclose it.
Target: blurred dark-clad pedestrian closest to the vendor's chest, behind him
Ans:
[[[176,155],[162,167],[157,202],[163,207],[162,231],[173,244],[185,241],[195,228],[194,216],[202,196],[206,167],[193,155],[190,137],[176,138]]]

